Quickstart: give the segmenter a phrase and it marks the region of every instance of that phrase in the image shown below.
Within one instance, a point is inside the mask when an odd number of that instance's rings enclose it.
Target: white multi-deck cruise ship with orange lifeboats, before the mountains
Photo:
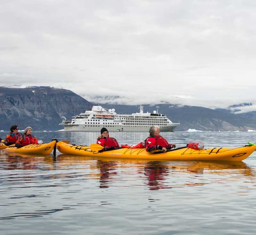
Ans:
[[[173,131],[180,123],[172,123],[164,114],[159,114],[156,110],[153,113],[143,113],[143,106],[140,105],[139,113],[117,114],[115,109],[105,109],[99,105],[93,105],[92,109],[86,110],[59,125],[64,126],[64,131],[68,132],[93,132],[100,131],[106,127],[109,132],[113,131],[147,131],[152,125],[159,126],[161,132]]]

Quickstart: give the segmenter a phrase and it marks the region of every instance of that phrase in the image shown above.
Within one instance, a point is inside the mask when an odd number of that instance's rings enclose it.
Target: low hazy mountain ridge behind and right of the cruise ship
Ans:
[[[114,108],[117,113],[139,112],[139,106],[102,104],[103,107]],[[176,131],[191,129],[202,131],[247,131],[256,129],[256,117],[245,114],[234,114],[229,110],[212,110],[198,106],[180,106],[175,104],[143,105],[144,112],[165,114],[172,122],[180,122]],[[256,112],[255,112],[256,113]]]

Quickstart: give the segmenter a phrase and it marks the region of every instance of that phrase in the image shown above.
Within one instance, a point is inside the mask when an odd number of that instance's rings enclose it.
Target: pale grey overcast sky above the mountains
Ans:
[[[3,0],[1,85],[99,103],[254,103],[255,12],[254,0]]]

